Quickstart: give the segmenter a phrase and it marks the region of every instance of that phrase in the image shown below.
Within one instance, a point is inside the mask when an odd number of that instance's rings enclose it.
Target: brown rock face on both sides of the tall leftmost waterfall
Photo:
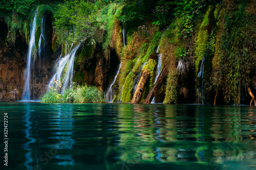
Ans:
[[[46,91],[49,78],[52,76],[54,60],[58,55],[52,52],[52,20],[47,22],[47,41],[45,57],[37,58],[31,69],[30,91],[31,99],[38,100]],[[26,69],[26,54],[28,45],[23,35],[17,34],[14,44],[6,42],[8,27],[0,20],[0,101],[18,101],[22,98],[24,88],[24,72]],[[34,71],[33,71],[34,70]]]

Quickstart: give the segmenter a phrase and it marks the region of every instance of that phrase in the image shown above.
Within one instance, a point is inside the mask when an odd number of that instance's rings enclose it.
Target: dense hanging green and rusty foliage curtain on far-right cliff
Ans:
[[[242,1],[233,7],[235,11],[223,8],[217,23],[220,30],[213,60],[213,84],[216,90],[222,88],[227,104],[240,104],[242,89],[246,91],[250,86],[255,66],[255,14],[246,13],[246,6]]]

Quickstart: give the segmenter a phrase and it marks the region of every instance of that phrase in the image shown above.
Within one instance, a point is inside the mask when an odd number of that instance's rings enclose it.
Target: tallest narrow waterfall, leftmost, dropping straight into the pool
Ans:
[[[29,41],[28,53],[26,55],[27,65],[26,65],[26,70],[25,70],[25,74],[24,74],[25,84],[24,84],[24,89],[23,89],[23,94],[22,94],[22,101],[30,101],[31,100],[30,72],[31,72],[31,60],[32,60],[32,56],[34,55],[34,47],[35,47],[36,12],[37,12],[37,10],[35,11],[32,28],[30,30],[30,41]]]

